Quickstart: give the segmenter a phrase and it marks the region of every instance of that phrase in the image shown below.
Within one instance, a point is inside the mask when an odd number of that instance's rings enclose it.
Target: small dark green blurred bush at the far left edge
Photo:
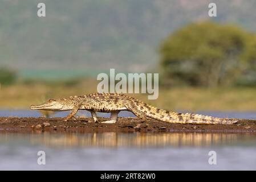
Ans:
[[[16,72],[8,68],[0,68],[0,86],[13,84],[16,79]]]

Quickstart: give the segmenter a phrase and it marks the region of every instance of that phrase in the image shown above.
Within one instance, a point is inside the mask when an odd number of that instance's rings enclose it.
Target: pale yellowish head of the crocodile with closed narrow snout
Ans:
[[[66,99],[58,100],[48,100],[40,105],[31,105],[32,110],[51,110],[51,111],[62,111],[62,110],[72,110],[74,105],[72,102],[68,102]]]

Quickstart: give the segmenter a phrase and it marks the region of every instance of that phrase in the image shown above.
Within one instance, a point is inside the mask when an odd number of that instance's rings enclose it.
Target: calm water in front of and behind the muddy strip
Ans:
[[[5,114],[39,116],[34,111],[0,111]],[[46,153],[45,165],[38,164],[38,151]],[[216,165],[209,164],[210,151],[217,154]],[[254,133],[7,133],[0,129],[0,169],[4,170],[255,170],[255,152]]]

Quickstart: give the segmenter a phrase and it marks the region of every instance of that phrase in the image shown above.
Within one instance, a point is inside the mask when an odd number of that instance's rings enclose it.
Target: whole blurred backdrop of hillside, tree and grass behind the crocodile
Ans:
[[[46,17],[37,5],[46,5]],[[98,73],[159,73],[168,110],[256,110],[256,1],[1,0],[0,109],[96,92]]]

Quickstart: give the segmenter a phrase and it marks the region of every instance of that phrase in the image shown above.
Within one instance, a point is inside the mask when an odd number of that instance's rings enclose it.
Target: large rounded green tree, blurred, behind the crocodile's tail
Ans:
[[[233,84],[256,60],[256,36],[232,25],[193,23],[160,45],[165,84]]]

